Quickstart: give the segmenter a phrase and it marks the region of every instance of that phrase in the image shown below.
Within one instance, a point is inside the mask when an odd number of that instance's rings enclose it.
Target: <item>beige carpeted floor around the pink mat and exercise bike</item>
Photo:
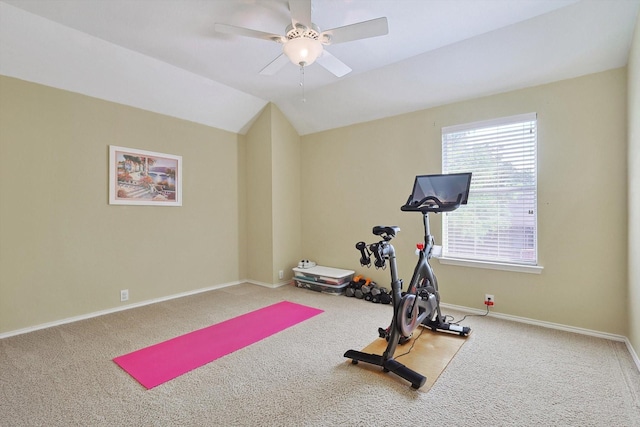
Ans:
[[[111,360],[282,300],[324,313],[151,390]],[[0,426],[640,427],[640,372],[624,343],[470,317],[473,333],[420,392],[343,357],[391,315],[243,284],[2,339]]]

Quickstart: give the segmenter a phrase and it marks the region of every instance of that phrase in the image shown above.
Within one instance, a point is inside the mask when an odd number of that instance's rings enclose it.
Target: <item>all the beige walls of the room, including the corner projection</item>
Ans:
[[[135,303],[242,279],[277,283],[300,257],[387,284],[388,271],[361,268],[353,247],[371,242],[377,224],[401,226],[408,280],[421,224],[399,206],[414,175],[439,172],[441,127],[535,111],[544,271],[434,262],[443,299],[482,308],[493,293],[495,311],[628,335],[638,349],[640,272],[626,261],[640,238],[638,37],[629,76],[613,70],[302,138],[274,105],[242,136],[0,77],[0,334],[117,308],[120,289]],[[182,155],[184,206],[108,205],[109,144]],[[439,217],[432,225],[439,240]]]

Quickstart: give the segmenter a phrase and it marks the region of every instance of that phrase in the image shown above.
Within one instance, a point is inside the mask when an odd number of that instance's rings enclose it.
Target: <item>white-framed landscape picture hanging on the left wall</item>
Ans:
[[[182,206],[182,157],[110,145],[109,204]]]

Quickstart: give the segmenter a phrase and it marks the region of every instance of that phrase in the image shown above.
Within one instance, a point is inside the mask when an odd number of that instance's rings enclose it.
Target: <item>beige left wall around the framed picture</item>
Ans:
[[[237,143],[0,77],[0,333],[237,281]],[[181,155],[183,206],[109,205],[110,144]]]

